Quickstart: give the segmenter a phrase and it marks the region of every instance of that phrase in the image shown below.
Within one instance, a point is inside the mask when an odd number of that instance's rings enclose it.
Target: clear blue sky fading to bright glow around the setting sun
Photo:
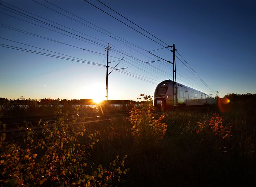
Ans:
[[[105,100],[108,43],[108,100],[172,80],[173,44],[178,83],[256,93],[256,1],[86,1],[1,1],[0,97]]]

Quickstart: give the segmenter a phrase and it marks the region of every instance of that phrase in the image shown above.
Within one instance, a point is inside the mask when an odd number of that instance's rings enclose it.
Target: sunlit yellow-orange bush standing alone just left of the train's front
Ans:
[[[162,123],[164,115],[157,118],[153,112],[155,109],[152,105],[152,96],[141,94],[143,104],[134,106],[129,114],[131,131],[135,141],[142,146],[155,144],[163,139],[167,125]]]

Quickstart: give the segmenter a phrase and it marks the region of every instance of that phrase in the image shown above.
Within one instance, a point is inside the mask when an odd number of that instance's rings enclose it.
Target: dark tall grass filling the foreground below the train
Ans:
[[[231,103],[228,109],[225,113],[210,107],[166,114],[164,138],[145,147],[135,144],[131,124],[124,117],[96,127],[88,125],[89,131],[100,131],[91,164],[108,165],[116,155],[127,155],[129,171],[120,186],[255,185],[255,105]]]

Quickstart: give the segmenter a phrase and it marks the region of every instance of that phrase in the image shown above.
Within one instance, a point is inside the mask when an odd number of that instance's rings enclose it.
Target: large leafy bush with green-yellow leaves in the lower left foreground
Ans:
[[[60,110],[61,111],[61,110]],[[1,186],[113,186],[123,183],[125,158],[104,167],[95,164],[93,154],[99,131],[89,132],[83,123],[76,124],[62,113],[53,124],[39,122],[42,134],[37,135],[26,124],[22,142],[5,141],[0,137]]]

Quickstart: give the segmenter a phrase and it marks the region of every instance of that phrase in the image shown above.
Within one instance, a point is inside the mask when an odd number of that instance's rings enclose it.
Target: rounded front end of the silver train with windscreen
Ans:
[[[164,80],[155,88],[154,107],[168,109],[173,107],[173,81]]]

